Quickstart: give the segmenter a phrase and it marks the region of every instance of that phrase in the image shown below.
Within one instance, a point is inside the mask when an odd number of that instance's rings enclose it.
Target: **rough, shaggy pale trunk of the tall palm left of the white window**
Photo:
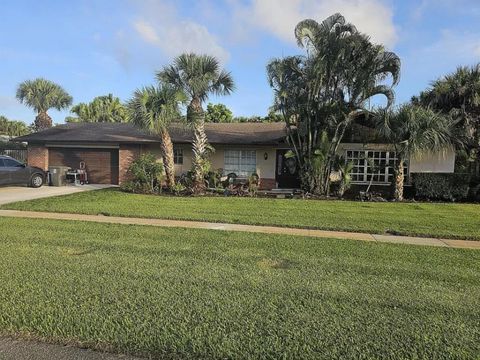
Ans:
[[[205,190],[205,162],[207,161],[208,139],[205,133],[205,113],[199,98],[193,98],[187,109],[187,118],[193,124],[193,174],[194,192]]]

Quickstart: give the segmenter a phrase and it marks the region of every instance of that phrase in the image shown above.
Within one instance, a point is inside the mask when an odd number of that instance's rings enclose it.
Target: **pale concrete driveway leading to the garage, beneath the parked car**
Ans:
[[[44,197],[68,195],[82,191],[92,191],[112,187],[112,185],[81,185],[81,186],[42,186],[37,189],[26,186],[0,187],[0,205],[11,202],[40,199]]]

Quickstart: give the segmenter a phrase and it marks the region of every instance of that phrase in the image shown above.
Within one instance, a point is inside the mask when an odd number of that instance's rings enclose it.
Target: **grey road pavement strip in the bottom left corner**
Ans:
[[[0,360],[136,360],[127,355],[109,354],[73,346],[0,337]]]

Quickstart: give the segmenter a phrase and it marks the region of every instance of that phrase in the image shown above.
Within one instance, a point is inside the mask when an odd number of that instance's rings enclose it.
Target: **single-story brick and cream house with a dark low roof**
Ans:
[[[263,189],[299,186],[296,164],[285,159],[289,150],[283,123],[207,123],[208,140],[215,148],[210,161],[224,174],[249,176],[257,173]],[[192,132],[172,125],[175,172],[185,173],[192,165]],[[160,139],[134,127],[117,123],[70,123],[21,136],[15,141],[28,143],[28,164],[48,170],[49,166],[78,168],[86,164],[91,183],[122,184],[130,163],[142,153],[160,159]],[[369,164],[387,164],[373,174],[375,185],[388,185],[393,179],[395,152],[382,144],[342,143],[339,154],[354,163],[353,182],[367,184],[372,172]],[[367,162],[365,158],[371,159]],[[424,154],[410,159],[407,174],[416,172],[451,173],[454,150]]]

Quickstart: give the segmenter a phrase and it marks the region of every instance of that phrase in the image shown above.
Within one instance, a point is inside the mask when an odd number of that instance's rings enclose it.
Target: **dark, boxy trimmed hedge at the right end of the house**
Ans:
[[[415,196],[420,199],[457,201],[467,198],[466,174],[414,174]]]

